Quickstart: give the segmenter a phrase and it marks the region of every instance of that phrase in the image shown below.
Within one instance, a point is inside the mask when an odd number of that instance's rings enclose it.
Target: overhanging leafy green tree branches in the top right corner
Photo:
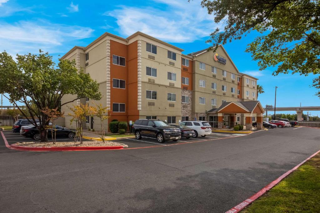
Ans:
[[[210,35],[211,49],[257,31],[259,36],[246,51],[260,70],[275,67],[273,75],[320,73],[319,0],[202,0],[201,5],[216,23],[225,24]],[[320,82],[315,80],[313,86]]]

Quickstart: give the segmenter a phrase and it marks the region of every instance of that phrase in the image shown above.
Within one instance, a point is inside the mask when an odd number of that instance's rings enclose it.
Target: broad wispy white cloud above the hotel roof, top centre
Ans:
[[[166,10],[156,7],[120,6],[103,15],[116,18],[118,32],[128,36],[136,31],[149,34],[166,42],[186,43],[209,36],[215,28],[221,28],[213,21],[213,16],[201,8],[198,1],[155,0],[166,4]],[[164,8],[164,7],[162,7]]]

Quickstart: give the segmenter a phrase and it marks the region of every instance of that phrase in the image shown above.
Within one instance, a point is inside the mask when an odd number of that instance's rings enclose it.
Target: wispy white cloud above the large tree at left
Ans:
[[[89,27],[52,24],[38,20],[14,24],[0,23],[0,51],[9,54],[37,53],[39,49],[50,53],[65,52],[70,42],[92,36]]]

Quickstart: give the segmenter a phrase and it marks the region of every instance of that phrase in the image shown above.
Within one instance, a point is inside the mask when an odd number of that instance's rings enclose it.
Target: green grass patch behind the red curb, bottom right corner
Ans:
[[[320,212],[320,154],[308,160],[242,212]]]

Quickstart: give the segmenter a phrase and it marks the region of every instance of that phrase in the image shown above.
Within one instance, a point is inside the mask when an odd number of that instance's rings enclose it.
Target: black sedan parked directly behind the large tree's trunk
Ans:
[[[62,126],[56,125],[56,137],[68,137],[68,138],[74,138],[76,135],[75,130],[71,130]],[[22,137],[27,137],[27,138],[33,138],[35,141],[40,140],[40,133],[39,130],[36,128],[34,125],[29,125],[29,126],[23,126],[21,128],[20,135]],[[51,137],[51,129],[48,129],[48,138],[50,139]]]

